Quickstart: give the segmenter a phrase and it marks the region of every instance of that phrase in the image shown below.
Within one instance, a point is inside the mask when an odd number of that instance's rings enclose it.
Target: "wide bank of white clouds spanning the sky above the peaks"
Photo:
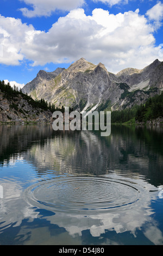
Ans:
[[[144,68],[160,58],[153,26],[139,9],[116,15],[95,9],[89,16],[82,8],[74,9],[48,32],[0,16],[0,63],[18,65],[28,59],[36,66],[71,63],[84,57],[95,64],[102,62],[110,72]]]

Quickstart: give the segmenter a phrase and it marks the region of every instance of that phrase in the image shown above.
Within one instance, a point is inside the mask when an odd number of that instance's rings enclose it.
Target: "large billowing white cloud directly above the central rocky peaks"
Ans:
[[[60,17],[48,33],[35,35],[35,56],[28,47],[24,53],[34,60],[34,65],[73,62],[84,57],[95,64],[103,62],[109,71],[116,72],[153,62],[159,52],[154,44],[153,27],[139,10],[114,15],[95,9],[86,16],[83,9],[76,9]]]

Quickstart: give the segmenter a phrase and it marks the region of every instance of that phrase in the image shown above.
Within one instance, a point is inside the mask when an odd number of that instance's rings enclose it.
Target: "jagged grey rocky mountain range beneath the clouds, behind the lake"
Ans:
[[[33,99],[43,98],[57,107],[70,106],[80,112],[124,109],[160,94],[162,74],[163,64],[158,59],[142,70],[127,68],[112,74],[102,63],[95,65],[81,58],[68,69],[40,70],[22,92]]]

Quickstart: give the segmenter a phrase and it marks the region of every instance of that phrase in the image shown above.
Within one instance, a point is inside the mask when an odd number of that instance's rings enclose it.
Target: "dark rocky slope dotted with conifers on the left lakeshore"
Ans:
[[[16,87],[0,81],[0,122],[49,123],[53,110],[54,106],[48,105],[45,100],[35,101]]]

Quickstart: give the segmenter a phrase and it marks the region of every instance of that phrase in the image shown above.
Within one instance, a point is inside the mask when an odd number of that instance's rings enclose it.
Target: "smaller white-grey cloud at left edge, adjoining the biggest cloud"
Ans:
[[[20,19],[0,15],[0,63],[19,65],[24,58],[23,48],[31,47],[35,31],[32,25],[27,26]],[[28,44],[29,42],[29,44]]]

